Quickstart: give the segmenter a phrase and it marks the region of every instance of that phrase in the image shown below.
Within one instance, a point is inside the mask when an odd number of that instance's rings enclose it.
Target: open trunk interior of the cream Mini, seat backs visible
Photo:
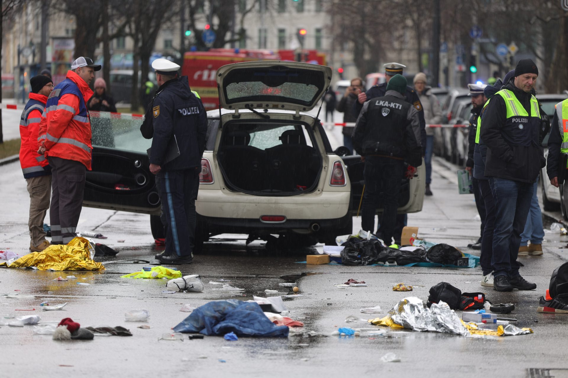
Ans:
[[[223,124],[217,159],[225,185],[258,196],[294,196],[318,186],[322,158],[312,130],[298,122]]]

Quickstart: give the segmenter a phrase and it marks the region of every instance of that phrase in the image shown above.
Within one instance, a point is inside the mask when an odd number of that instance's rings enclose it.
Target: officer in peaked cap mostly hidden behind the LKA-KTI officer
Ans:
[[[360,93],[357,96],[357,101],[355,101],[355,104],[353,105],[354,106],[353,112],[355,117],[359,116],[359,113],[361,112],[361,109],[363,108],[363,104],[365,103],[365,101],[373,99],[375,97],[385,96],[385,93],[387,91],[387,84],[389,83],[390,79],[394,75],[397,74],[402,75],[403,69],[406,68],[405,65],[395,62],[386,63],[383,66],[385,67],[385,74],[386,74],[385,83],[377,84],[369,88],[369,90],[366,91],[365,93]],[[418,95],[416,94],[416,92],[412,87],[410,86],[406,87],[406,92],[404,93],[404,100],[406,100],[407,103],[411,103],[418,112],[418,118],[420,120],[420,145],[426,146],[426,122],[424,120],[424,109],[422,108],[422,104],[420,103]],[[406,214],[399,214],[396,216],[396,227],[395,227],[396,244],[400,243],[400,234],[402,233],[402,228],[406,226],[406,222],[407,222]]]

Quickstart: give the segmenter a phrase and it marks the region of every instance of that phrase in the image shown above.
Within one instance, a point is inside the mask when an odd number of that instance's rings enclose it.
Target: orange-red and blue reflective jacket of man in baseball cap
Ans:
[[[73,71],[57,84],[41,115],[38,144],[45,156],[76,160],[91,169],[91,122],[86,101],[93,96],[85,80]]]

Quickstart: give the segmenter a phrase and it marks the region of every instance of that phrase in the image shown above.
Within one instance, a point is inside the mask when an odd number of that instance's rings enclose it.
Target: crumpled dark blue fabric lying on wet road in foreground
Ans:
[[[174,332],[207,336],[234,332],[237,336],[288,337],[289,328],[275,325],[257,303],[236,299],[214,300],[194,309]]]

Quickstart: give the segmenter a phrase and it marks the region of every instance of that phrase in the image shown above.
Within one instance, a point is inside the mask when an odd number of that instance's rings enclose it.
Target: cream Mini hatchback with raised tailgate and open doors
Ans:
[[[335,244],[337,235],[353,231],[364,163],[358,155],[340,156],[344,147],[333,151],[318,118],[306,113],[330,80],[329,67],[299,62],[243,62],[218,70],[223,109],[207,112],[197,250],[227,232]],[[140,121],[112,121],[115,147],[94,146],[83,205],[151,214],[153,236],[163,236],[148,170],[151,141],[141,137]],[[404,180],[399,213],[422,209],[424,185],[422,165],[413,180]]]

